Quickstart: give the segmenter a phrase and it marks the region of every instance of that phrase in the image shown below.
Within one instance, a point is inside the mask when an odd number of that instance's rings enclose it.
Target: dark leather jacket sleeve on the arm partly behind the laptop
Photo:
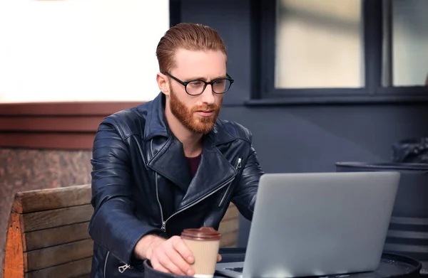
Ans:
[[[250,154],[244,160],[245,165],[238,180],[235,194],[232,202],[236,205],[240,213],[251,220],[255,205],[255,198],[258,191],[258,183],[260,176],[263,175],[263,170],[258,162],[257,154],[253,146],[250,148]]]

